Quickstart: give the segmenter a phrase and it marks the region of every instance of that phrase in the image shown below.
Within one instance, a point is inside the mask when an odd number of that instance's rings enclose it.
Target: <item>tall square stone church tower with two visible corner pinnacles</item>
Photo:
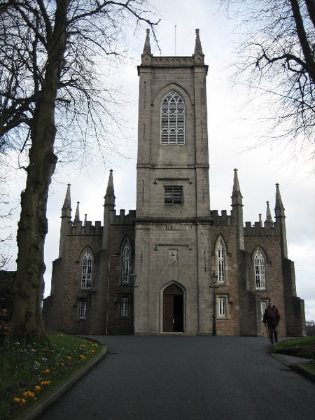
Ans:
[[[154,57],[139,74],[135,333],[209,333],[211,226],[206,76],[190,57]]]

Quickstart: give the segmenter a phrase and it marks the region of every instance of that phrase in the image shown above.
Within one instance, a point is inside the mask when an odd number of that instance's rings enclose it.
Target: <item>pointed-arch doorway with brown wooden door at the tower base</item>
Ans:
[[[183,295],[174,283],[163,291],[163,332],[183,332]]]

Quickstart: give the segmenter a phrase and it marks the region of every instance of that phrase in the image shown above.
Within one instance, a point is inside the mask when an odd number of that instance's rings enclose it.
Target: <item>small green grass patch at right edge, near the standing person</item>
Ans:
[[[309,363],[304,363],[303,367],[315,374],[315,335],[286,339],[276,344],[275,352],[311,359]]]

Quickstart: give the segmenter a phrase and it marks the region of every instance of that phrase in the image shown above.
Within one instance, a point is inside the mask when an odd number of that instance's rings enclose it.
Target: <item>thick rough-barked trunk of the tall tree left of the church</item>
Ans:
[[[45,80],[38,92],[31,123],[27,185],[21,194],[18,223],[17,274],[13,284],[11,339],[48,342],[41,316],[44,244],[48,232],[48,188],[55,171],[55,101],[66,47],[66,13],[69,1],[56,1],[55,28],[48,36]],[[51,29],[51,28],[49,28]]]

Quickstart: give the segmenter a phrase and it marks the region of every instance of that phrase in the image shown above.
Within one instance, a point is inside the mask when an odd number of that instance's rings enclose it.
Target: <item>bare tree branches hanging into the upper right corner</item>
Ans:
[[[315,1],[230,0],[228,10],[243,39],[237,80],[268,97],[269,139],[299,142],[301,151],[314,158]]]

